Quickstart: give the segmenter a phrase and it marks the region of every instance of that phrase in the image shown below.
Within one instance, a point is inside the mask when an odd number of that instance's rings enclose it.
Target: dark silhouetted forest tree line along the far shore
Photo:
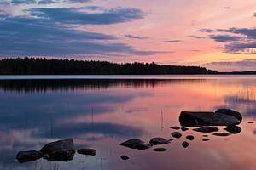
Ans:
[[[0,60],[1,75],[189,75],[217,74],[200,66],[111,63],[75,59],[15,58]]]

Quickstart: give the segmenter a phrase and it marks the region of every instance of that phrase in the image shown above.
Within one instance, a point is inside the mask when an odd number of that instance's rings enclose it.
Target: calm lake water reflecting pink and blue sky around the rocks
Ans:
[[[0,169],[256,169],[256,77],[65,78],[0,77]],[[180,111],[218,108],[242,113],[241,133],[229,137],[209,134],[205,138],[190,128],[181,139],[148,150],[119,145],[131,138],[147,143],[154,137],[171,139],[175,130],[170,127],[179,126]],[[251,121],[255,123],[247,123]],[[184,149],[181,144],[189,134],[195,140]],[[67,163],[15,161],[20,150],[40,150],[48,142],[66,138],[74,139],[76,149],[96,149],[96,156],[76,154]],[[167,151],[154,152],[156,147]],[[121,160],[121,155],[130,160]]]

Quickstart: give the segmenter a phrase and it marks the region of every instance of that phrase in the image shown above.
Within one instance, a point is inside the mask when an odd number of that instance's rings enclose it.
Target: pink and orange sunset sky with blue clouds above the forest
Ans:
[[[0,0],[0,56],[256,70],[256,0]]]

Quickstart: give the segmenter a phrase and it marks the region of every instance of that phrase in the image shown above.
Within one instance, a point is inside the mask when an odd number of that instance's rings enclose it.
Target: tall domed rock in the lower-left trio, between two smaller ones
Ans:
[[[64,139],[45,144],[40,150],[49,161],[71,161],[75,154],[73,139]]]

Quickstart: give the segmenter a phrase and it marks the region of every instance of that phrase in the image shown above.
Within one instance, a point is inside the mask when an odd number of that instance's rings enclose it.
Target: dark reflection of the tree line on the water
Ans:
[[[166,84],[180,83],[204,83],[204,79],[172,79],[172,80],[2,80],[0,81],[0,89],[3,91],[16,91],[16,92],[48,92],[48,91],[67,91],[79,89],[104,89],[104,88],[119,88],[119,87],[132,87],[132,88],[154,88]]]

